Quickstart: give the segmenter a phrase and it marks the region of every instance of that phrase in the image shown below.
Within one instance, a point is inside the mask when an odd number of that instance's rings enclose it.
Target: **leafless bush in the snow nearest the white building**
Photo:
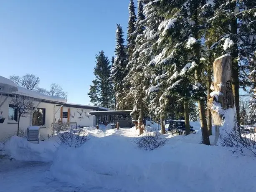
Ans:
[[[83,129],[69,129],[68,131],[58,134],[58,144],[66,144],[69,147],[81,147],[88,141],[89,135]]]

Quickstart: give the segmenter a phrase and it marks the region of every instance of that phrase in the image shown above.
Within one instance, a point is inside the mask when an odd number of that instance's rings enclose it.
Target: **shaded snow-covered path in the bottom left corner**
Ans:
[[[72,186],[51,178],[50,162],[0,160],[0,192],[107,192],[106,189]]]

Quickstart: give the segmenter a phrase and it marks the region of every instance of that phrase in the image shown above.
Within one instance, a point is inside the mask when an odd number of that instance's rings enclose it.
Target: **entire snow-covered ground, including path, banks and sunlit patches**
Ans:
[[[134,128],[84,128],[91,139],[76,149],[13,137],[6,152],[23,162],[0,160],[0,192],[255,191],[255,158],[199,144],[200,125],[191,126],[197,134],[166,134],[167,144],[153,151],[132,142]]]

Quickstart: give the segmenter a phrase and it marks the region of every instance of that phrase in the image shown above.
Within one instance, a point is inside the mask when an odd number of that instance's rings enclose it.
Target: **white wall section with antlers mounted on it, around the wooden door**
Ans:
[[[93,110],[70,107],[69,120],[71,123],[76,122],[77,126],[83,126],[83,127],[94,126],[95,117],[94,116],[89,116],[89,117],[86,116],[86,115],[88,115],[88,113],[90,111],[93,111]],[[68,112],[68,107],[63,107],[62,112]],[[81,114],[81,116],[79,113]],[[61,112],[58,111],[58,113],[56,114],[57,119],[61,116],[60,114],[61,114]],[[74,118],[72,116],[74,116]],[[67,122],[67,120],[68,120],[67,118],[63,118],[62,122]]]

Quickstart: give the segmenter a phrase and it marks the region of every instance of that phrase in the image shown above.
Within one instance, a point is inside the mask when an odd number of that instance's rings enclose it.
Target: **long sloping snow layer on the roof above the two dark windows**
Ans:
[[[28,90],[28,89],[25,89],[25,88],[19,87],[19,86],[18,86],[18,91],[16,91],[15,93],[18,95],[24,95],[24,96],[28,96],[28,97],[32,97],[32,98],[36,98],[36,99],[45,100],[45,101],[55,101],[58,103],[66,103],[67,102],[65,98],[44,95],[42,93],[38,93],[36,91],[31,91],[31,90]]]

